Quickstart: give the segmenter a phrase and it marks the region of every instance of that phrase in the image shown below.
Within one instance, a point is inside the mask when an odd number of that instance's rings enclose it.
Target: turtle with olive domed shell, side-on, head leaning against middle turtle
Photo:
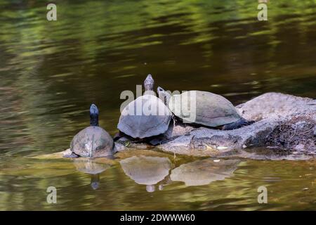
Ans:
[[[186,91],[171,96],[160,86],[157,92],[159,98],[173,113],[173,118],[176,117],[183,122],[223,130],[238,129],[254,123],[245,120],[228,99],[218,94],[208,91]]]

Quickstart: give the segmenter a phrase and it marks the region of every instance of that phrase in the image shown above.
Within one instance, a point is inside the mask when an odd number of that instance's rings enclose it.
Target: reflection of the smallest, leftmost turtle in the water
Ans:
[[[100,186],[100,173],[110,168],[106,163],[97,162],[89,158],[74,159],[74,166],[80,172],[91,174],[91,187],[96,190]]]

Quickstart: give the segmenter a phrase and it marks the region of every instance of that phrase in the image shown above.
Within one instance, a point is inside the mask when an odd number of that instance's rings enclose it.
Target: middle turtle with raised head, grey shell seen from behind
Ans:
[[[120,133],[115,139],[126,134],[133,139],[146,139],[164,134],[169,128],[171,115],[164,102],[154,95],[154,79],[147,75],[145,94],[132,101],[121,112],[117,129]]]

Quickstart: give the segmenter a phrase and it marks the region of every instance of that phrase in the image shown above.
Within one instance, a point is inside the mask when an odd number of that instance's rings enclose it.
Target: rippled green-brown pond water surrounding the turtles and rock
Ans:
[[[68,148],[91,102],[114,135],[121,91],[136,91],[148,73],[165,89],[211,91],[235,105],[267,91],[316,98],[315,0],[270,0],[265,22],[250,0],[55,4],[58,20],[48,22],[46,1],[0,0],[0,210],[316,209],[315,160],[241,160],[225,177],[215,169],[209,184],[187,186],[170,181],[173,169],[205,159],[163,155],[169,175],[147,192],[120,158],[96,190],[72,160],[32,158]],[[46,202],[48,186],[57,204]],[[268,204],[258,204],[259,186]]]

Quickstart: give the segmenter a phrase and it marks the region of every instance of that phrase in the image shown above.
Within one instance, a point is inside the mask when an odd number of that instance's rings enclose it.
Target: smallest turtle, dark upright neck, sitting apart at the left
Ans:
[[[90,126],[79,131],[70,143],[71,153],[64,155],[65,158],[88,157],[98,158],[107,157],[114,153],[114,142],[107,131],[99,127],[98,107],[91,104],[90,107]]]

